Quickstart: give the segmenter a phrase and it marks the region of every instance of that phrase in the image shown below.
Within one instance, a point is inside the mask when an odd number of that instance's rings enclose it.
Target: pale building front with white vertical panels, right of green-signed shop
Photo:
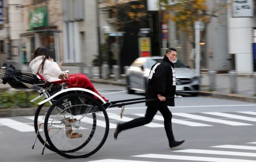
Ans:
[[[62,0],[64,62],[92,64],[99,55],[96,0]]]

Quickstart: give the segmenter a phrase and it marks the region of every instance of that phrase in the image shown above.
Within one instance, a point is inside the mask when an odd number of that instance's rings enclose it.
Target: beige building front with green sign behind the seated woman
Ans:
[[[59,0],[23,0],[23,32],[20,33],[20,60],[29,64],[39,46],[50,50],[56,62],[63,60],[62,11]]]

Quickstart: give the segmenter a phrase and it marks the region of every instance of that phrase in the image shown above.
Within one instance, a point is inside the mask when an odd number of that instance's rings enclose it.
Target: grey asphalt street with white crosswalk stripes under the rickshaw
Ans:
[[[110,101],[144,96],[128,95],[125,87],[94,85]],[[175,99],[175,107],[170,107],[173,132],[176,140],[186,142],[172,150],[159,112],[150,124],[125,130],[117,140],[113,138],[117,122],[143,116],[145,110],[144,103],[128,105],[120,119],[120,108],[108,109],[108,139],[98,152],[84,159],[66,159],[50,150],[41,155],[43,146],[39,142],[32,150],[35,132],[31,116],[0,118],[0,162],[256,161],[256,104],[208,97]]]

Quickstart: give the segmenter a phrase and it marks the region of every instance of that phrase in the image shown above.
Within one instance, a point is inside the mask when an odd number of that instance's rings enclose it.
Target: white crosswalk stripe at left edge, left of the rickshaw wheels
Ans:
[[[12,129],[18,130],[20,132],[32,132],[35,131],[34,127],[29,124],[24,124],[22,122],[15,121],[13,119],[0,119],[0,124],[3,124]]]

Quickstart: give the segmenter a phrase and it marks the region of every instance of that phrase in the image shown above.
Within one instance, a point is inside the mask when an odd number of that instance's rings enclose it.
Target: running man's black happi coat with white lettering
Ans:
[[[173,97],[176,91],[176,78],[174,64],[164,55],[161,62],[151,67],[148,86],[146,90],[146,99],[157,98],[157,94],[164,97]],[[175,106],[174,99],[166,101],[146,102],[146,106]]]

